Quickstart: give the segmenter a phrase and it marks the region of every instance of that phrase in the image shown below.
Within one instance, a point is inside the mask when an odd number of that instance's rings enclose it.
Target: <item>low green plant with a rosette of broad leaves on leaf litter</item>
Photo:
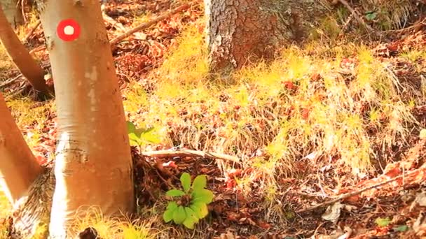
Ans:
[[[184,224],[188,229],[194,229],[194,225],[209,213],[207,205],[213,200],[213,193],[205,189],[207,185],[206,175],[198,175],[191,186],[191,175],[181,175],[183,190],[171,189],[166,192],[167,196],[176,198],[170,201],[163,214],[165,222],[173,220],[175,224]]]

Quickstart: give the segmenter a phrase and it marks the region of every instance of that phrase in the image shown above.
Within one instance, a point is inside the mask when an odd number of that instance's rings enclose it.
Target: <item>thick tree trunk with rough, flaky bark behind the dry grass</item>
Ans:
[[[226,76],[272,59],[277,48],[302,41],[324,10],[312,0],[205,0],[210,71]]]

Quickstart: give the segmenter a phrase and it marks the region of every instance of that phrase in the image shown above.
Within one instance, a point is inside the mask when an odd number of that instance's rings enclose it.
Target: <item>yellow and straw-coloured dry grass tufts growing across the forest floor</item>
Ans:
[[[400,15],[404,17],[404,14]],[[335,20],[324,26],[335,29]],[[337,35],[336,35],[337,36]],[[379,61],[366,45],[345,43],[329,49],[322,41],[305,48],[289,46],[272,64],[259,63],[233,75],[235,84],[207,82],[206,49],[197,24],[181,34],[165,62],[153,72],[153,91],[132,82],[123,101],[128,119],[154,126],[165,147],[190,147],[240,157],[247,171],[238,187],[266,198],[265,208],[277,209],[282,188],[278,180],[303,177],[312,168],[332,163],[337,172],[354,178],[376,173],[372,162],[387,157],[396,143],[419,129],[411,109],[425,98],[403,83],[389,64]],[[0,51],[1,53],[1,51]],[[404,52],[408,61],[424,51]],[[341,62],[348,61],[342,67]],[[29,110],[31,102],[8,102],[18,125],[36,126],[53,104]],[[30,129],[36,143],[40,133]],[[306,156],[312,156],[306,158]],[[224,172],[231,165],[224,165]],[[252,187],[256,185],[256,187]],[[278,202],[278,203],[277,203]],[[151,223],[162,211],[143,215],[143,222],[102,217],[88,210],[76,230],[88,226],[102,238],[153,238]]]

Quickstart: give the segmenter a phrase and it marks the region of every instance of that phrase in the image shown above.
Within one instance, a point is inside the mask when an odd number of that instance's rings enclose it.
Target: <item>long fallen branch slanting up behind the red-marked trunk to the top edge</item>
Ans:
[[[121,34],[120,36],[117,36],[116,38],[112,39],[111,41],[109,41],[109,43],[111,44],[111,48],[114,48],[114,46],[122,41],[123,39],[127,38],[128,36],[134,34],[137,31],[140,31],[142,29],[146,29],[148,27],[151,27],[153,24],[156,24],[157,22],[160,22],[162,20],[165,20],[169,17],[171,17],[172,15],[176,14],[176,13],[181,13],[182,11],[191,8],[192,6],[195,6],[195,4],[198,4],[199,0],[195,0],[195,1],[191,1],[191,3],[184,3],[181,6],[174,8],[173,10],[171,10],[168,13],[165,13],[163,15],[160,15],[156,18],[154,18],[153,20],[149,21],[149,22],[144,22],[142,24],[139,24],[136,27],[133,27],[132,29],[126,31],[124,34]]]

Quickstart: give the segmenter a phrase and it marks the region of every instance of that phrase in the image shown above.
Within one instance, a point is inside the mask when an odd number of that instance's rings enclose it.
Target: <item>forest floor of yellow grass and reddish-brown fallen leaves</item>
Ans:
[[[104,8],[110,38],[183,1],[120,2]],[[21,38],[35,22],[29,14]],[[81,231],[92,226],[100,238],[426,237],[426,25],[380,42],[331,38],[326,30],[236,72],[232,85],[207,80],[202,6],[118,43],[126,117],[153,129],[132,146],[138,212],[132,224],[92,212]],[[37,28],[26,45],[49,70],[43,43]],[[51,166],[55,101],[32,101],[1,47],[0,70],[0,85],[15,78],[1,87],[13,117],[40,163]],[[186,149],[239,161],[142,156]],[[207,175],[215,195],[194,230],[162,217],[165,191],[180,187],[184,172]],[[9,210],[0,194],[0,224]]]

